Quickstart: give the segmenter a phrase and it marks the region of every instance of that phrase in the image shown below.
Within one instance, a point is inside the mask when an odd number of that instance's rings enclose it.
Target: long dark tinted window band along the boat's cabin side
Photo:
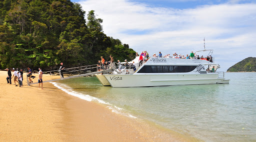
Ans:
[[[196,66],[143,66],[138,73],[182,73],[194,70]]]

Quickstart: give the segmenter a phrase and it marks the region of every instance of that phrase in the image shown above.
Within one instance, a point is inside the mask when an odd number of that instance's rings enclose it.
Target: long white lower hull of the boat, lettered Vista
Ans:
[[[103,78],[103,76],[105,78]],[[218,78],[217,73],[213,74],[173,74],[173,75],[123,75],[105,74],[101,75],[99,81],[108,82],[112,87],[151,87],[171,85],[193,85],[193,84],[216,84],[229,83],[229,80]],[[103,84],[103,83],[102,83]],[[107,83],[104,83],[105,85]],[[103,84],[103,85],[104,85]],[[104,86],[105,86],[104,85]]]

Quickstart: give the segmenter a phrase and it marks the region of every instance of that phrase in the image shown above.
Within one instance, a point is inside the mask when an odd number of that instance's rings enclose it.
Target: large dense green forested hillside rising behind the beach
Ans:
[[[86,16],[86,17],[85,17]],[[135,51],[103,33],[102,19],[70,0],[0,0],[0,68],[55,69],[134,58]]]

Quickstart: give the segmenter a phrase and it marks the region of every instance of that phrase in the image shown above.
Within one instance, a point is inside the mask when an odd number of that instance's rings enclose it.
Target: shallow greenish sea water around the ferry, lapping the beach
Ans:
[[[256,73],[225,73],[225,79],[229,84],[112,88],[81,77],[54,85],[201,141],[256,142]]]

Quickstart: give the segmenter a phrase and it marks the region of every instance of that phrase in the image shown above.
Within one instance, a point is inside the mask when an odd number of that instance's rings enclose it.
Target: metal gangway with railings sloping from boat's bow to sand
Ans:
[[[89,66],[93,66],[93,65],[89,65]],[[82,67],[88,67],[88,66],[82,66]],[[85,68],[85,69],[74,70],[74,71],[88,70],[88,69],[93,69],[93,68],[97,68],[97,67],[98,66],[90,67],[90,68]],[[81,68],[81,67],[75,67],[75,68]],[[70,70],[70,69],[75,69],[75,68],[67,68],[67,69],[64,69],[64,70]],[[89,76],[89,75],[93,75],[93,74],[107,73],[107,72],[110,72],[112,70],[113,69],[104,69],[104,70],[100,70],[100,71],[84,73],[84,74],[79,74],[79,75],[73,75],[73,76],[69,76],[69,77],[62,77],[61,74],[60,74],[60,70],[47,71],[47,72],[56,72],[56,71],[58,71],[57,74],[59,74],[60,78],[59,79],[46,80],[46,81],[43,81],[43,83],[45,83],[45,82],[53,82],[53,81],[58,81],[58,80],[65,80],[65,79],[70,79],[70,78],[83,77],[83,76]],[[74,72],[74,71],[67,71],[67,72],[63,72],[63,73]],[[44,73],[47,73],[47,72],[44,72]],[[32,84],[38,84],[37,82],[29,83],[28,77],[26,77],[26,81],[27,81],[27,86],[30,86]]]

